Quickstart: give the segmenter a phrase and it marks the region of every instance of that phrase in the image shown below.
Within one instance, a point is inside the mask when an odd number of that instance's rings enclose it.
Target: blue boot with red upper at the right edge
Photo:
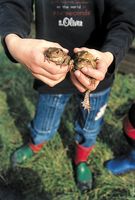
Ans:
[[[121,175],[135,170],[135,128],[128,118],[124,120],[123,129],[126,139],[131,146],[131,151],[126,155],[105,163],[107,170],[114,175]]]

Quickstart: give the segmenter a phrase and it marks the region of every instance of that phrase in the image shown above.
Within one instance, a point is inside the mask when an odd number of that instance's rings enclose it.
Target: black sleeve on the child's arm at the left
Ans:
[[[30,33],[33,19],[32,0],[0,0],[0,36],[6,55],[15,61],[10,55],[4,38],[7,34],[15,33],[25,38]]]

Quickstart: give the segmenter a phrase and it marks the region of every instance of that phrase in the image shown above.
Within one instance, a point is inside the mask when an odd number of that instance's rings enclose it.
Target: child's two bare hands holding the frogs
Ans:
[[[53,62],[44,60],[44,51],[49,47],[62,48],[66,53],[68,50],[58,43],[38,39],[22,39],[16,34],[9,34],[5,42],[10,54],[19,63],[25,65],[32,75],[49,85],[50,87],[63,81],[70,70],[68,66],[59,66]],[[99,82],[104,79],[108,67],[113,61],[110,52],[100,52],[88,48],[75,48],[74,52],[81,50],[89,51],[95,58],[98,58],[97,68],[82,68],[75,72],[70,72],[71,80],[80,92],[95,90]],[[96,83],[90,84],[89,77],[96,79]]]

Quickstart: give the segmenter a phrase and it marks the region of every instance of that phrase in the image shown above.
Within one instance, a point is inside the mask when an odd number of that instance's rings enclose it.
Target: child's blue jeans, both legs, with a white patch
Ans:
[[[103,124],[103,115],[107,106],[110,88],[90,94],[90,112],[81,106],[83,95],[77,95],[78,114],[75,121],[75,140],[79,144],[90,147]],[[50,140],[57,132],[62,113],[72,94],[40,94],[35,113],[31,122],[31,137],[35,144]],[[71,111],[72,112],[72,111]]]

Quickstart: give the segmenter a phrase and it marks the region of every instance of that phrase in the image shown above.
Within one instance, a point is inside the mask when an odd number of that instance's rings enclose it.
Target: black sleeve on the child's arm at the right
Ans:
[[[118,66],[127,53],[135,36],[135,0],[106,0],[105,39],[102,51],[114,55],[113,66]]]

